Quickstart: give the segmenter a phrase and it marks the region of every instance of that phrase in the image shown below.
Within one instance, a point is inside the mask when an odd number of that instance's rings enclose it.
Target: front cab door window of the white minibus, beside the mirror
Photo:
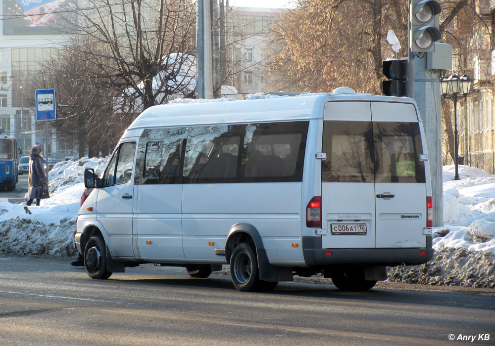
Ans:
[[[126,142],[119,146],[103,174],[104,186],[123,184],[131,180],[135,152],[135,142]]]

